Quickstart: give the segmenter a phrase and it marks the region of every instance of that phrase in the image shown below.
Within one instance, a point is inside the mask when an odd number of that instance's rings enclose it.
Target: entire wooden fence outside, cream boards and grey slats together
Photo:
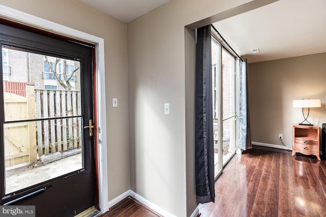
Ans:
[[[25,85],[25,96],[4,92],[6,167],[37,161],[37,155],[79,148],[82,143],[80,91],[34,89]]]

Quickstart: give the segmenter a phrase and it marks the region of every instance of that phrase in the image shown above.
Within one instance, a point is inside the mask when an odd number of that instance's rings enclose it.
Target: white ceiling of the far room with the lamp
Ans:
[[[326,52],[326,1],[281,0],[214,23],[249,63]],[[259,53],[253,53],[253,49]]]

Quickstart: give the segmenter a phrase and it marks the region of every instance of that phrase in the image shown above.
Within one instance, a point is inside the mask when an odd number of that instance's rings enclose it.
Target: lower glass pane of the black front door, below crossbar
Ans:
[[[82,169],[81,128],[82,118],[5,123],[5,193]]]

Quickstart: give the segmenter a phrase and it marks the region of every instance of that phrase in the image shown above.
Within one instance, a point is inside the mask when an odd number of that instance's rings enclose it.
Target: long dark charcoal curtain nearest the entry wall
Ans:
[[[210,26],[197,29],[195,94],[196,200],[214,202],[214,147]]]

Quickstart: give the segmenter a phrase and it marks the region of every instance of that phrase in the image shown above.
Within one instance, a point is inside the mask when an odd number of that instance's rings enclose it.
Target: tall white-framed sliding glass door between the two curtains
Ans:
[[[212,37],[212,97],[215,177],[236,150],[235,57]]]

